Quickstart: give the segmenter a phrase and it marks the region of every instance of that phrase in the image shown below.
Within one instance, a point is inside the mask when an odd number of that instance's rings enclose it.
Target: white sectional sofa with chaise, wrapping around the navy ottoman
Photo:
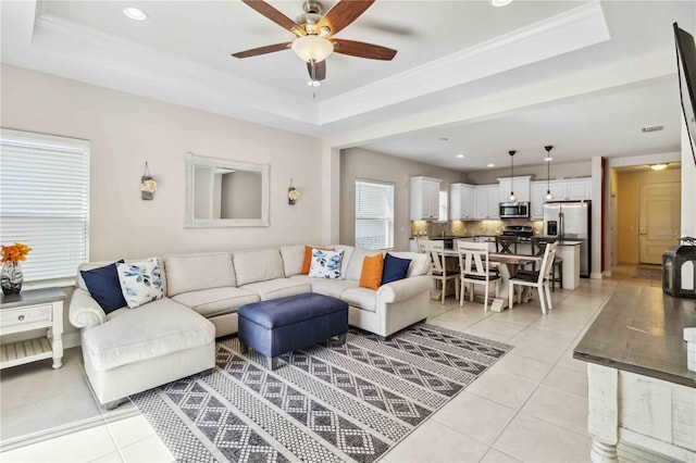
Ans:
[[[87,376],[101,403],[117,404],[129,395],[214,366],[216,337],[237,333],[237,309],[303,292],[332,296],[349,304],[349,324],[387,337],[425,320],[432,278],[425,254],[390,252],[410,259],[406,278],[360,287],[362,260],[378,251],[349,246],[341,279],[301,275],[304,246],[238,252],[165,255],[159,260],[165,297],[108,315],[91,298],[79,271],[70,321],[80,328]]]

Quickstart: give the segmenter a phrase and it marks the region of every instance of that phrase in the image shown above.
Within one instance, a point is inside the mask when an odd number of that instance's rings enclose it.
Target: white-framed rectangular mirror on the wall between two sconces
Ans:
[[[186,153],[187,227],[268,227],[270,165]]]

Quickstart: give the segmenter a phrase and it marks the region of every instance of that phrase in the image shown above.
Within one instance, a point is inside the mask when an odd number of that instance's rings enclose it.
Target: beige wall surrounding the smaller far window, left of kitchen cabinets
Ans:
[[[394,189],[394,249],[408,251],[411,235],[409,177],[440,178],[440,191],[463,182],[461,172],[350,148],[340,152],[340,242],[355,243],[356,179],[389,182]]]

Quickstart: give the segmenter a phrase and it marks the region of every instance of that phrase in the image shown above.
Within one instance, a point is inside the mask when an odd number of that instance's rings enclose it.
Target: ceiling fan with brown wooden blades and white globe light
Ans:
[[[293,41],[268,45],[232,55],[250,58],[291,49],[307,62],[310,76],[309,85],[311,86],[316,87],[326,78],[325,59],[332,52],[385,61],[390,61],[396,55],[396,50],[390,48],[334,38],[335,34],[350,25],[370,8],[374,0],[340,0],[324,15],[322,15],[324,8],[319,0],[306,0],[302,4],[304,14],[297,16],[295,21],[263,0],[241,1],[284,29],[295,34],[296,38]]]

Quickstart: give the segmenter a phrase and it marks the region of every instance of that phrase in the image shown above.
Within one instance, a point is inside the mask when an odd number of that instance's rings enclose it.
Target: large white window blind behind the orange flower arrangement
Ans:
[[[72,278],[89,256],[87,140],[2,129],[0,243],[32,248],[25,281]]]

